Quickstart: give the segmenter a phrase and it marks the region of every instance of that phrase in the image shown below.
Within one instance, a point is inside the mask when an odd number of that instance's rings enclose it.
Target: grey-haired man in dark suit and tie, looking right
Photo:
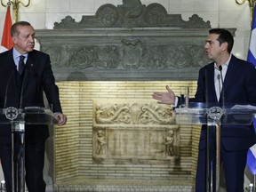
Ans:
[[[12,25],[11,35],[13,48],[0,54],[0,108],[44,108],[45,93],[58,125],[66,124],[67,118],[62,114],[60,107],[59,89],[52,74],[50,57],[44,52],[34,50],[34,28],[26,21],[19,21]],[[23,57],[21,60],[20,55]],[[49,136],[48,127],[44,124],[26,124],[25,127],[25,170],[28,191],[44,192],[44,144]],[[0,158],[7,192],[11,192],[11,125],[0,124]]]

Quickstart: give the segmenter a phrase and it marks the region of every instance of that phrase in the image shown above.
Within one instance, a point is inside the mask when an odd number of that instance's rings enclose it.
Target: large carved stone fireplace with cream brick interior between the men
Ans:
[[[54,191],[193,191],[200,127],[175,124],[151,95],[166,84],[196,92],[209,28],[132,0],[36,30],[68,116],[48,146]]]

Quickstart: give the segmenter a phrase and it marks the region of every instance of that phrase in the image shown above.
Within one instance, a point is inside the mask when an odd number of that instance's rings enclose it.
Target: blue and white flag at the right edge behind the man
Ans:
[[[250,47],[247,60],[252,62],[256,68],[256,4],[254,6],[254,13],[252,18],[252,33],[250,40]],[[256,119],[253,119],[254,130],[256,132]],[[247,167],[252,172],[252,175],[256,174],[256,144],[248,150],[247,153]]]

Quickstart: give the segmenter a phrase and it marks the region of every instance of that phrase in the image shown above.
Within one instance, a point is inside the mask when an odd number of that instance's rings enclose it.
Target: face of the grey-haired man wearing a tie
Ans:
[[[14,47],[21,54],[32,52],[35,46],[35,30],[32,26],[18,26],[20,32],[17,36],[12,36]]]

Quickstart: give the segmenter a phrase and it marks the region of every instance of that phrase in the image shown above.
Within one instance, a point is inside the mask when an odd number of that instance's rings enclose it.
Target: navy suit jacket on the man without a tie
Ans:
[[[234,55],[228,64],[224,80],[225,102],[229,104],[256,104],[256,69],[245,60]],[[207,90],[207,91],[206,91]],[[214,63],[210,63],[199,71],[197,90],[194,101],[218,103],[214,85]],[[221,142],[228,151],[250,148],[256,142],[253,125],[221,126]],[[205,148],[206,127],[202,127],[199,148]]]

